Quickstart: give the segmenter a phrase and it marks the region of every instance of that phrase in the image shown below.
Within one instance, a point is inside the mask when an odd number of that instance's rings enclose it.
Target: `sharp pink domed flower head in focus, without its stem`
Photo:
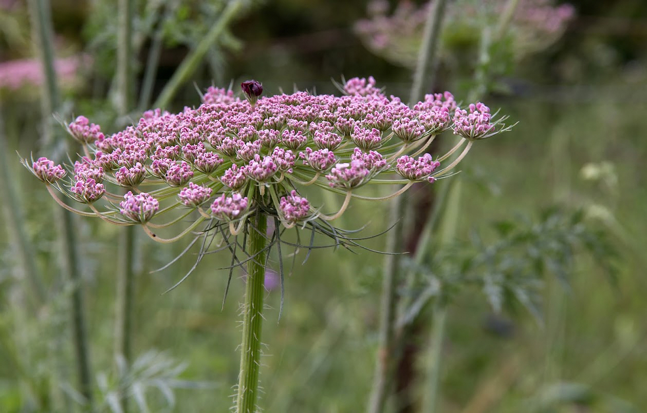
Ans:
[[[433,182],[439,163],[423,153],[433,135],[452,128],[450,111],[461,136],[479,139],[499,132],[483,103],[463,111],[445,92],[408,107],[382,94],[373,78],[350,79],[345,96],[295,92],[261,97],[260,83],[250,81],[246,87],[248,100],[211,87],[195,109],[147,111],[137,124],[114,134],[102,133],[79,116],[68,131],[87,156],[74,163],[71,195],[85,204],[100,198],[111,203],[115,195],[106,191],[108,185],[133,189],[120,203],[120,212],[133,223],[148,222],[166,198],[197,208],[215,196],[210,211],[220,220],[247,217],[258,209],[292,225],[313,216],[298,185],[351,192],[349,200],[378,176],[382,179],[376,184],[387,183],[393,170],[409,180]],[[47,158],[30,169],[50,184],[66,173]],[[142,183],[158,187],[133,195]],[[288,195],[279,199],[280,194]],[[317,217],[334,219],[347,204],[335,215]]]

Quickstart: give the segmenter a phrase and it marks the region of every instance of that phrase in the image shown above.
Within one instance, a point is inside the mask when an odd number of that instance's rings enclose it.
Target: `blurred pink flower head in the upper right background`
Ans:
[[[509,30],[501,41],[507,54],[522,57],[551,45],[564,32],[575,16],[569,4],[553,5],[552,0],[520,0],[510,21]],[[384,0],[369,2],[369,18],[355,23],[355,32],[364,45],[378,56],[404,67],[415,67],[422,33],[433,1],[417,6],[411,1],[399,1],[392,14]],[[498,20],[509,5],[507,0],[455,0],[444,13],[441,49],[443,57],[451,62],[452,54],[476,50],[479,33],[486,25]],[[460,33],[461,36],[455,36]],[[460,39],[459,42],[456,39]],[[460,69],[460,68],[458,68]],[[362,84],[353,85],[362,90]]]

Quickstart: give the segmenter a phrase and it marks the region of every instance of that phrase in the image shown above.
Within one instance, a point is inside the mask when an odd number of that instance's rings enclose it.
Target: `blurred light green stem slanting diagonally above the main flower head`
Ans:
[[[198,43],[197,47],[195,47],[190,54],[182,60],[180,67],[175,70],[173,77],[171,77],[168,83],[166,83],[160,96],[155,101],[155,104],[153,105],[154,107],[164,108],[168,106],[182,83],[186,82],[195,70],[197,70],[198,66],[202,63],[204,56],[206,56],[206,53],[209,51],[209,48],[214,45],[227,25],[232,21],[232,19],[234,19],[234,17],[236,17],[242,7],[242,0],[233,0],[227,3],[225,10],[223,10],[223,13],[212,26],[211,30],[209,30],[202,41]]]

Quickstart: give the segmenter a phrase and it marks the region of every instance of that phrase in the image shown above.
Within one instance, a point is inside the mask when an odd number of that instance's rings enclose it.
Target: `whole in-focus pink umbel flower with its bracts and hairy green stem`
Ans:
[[[353,198],[389,200],[414,182],[450,176],[474,140],[510,129],[502,123],[505,117],[493,120],[481,103],[470,113],[461,111],[449,92],[428,94],[408,107],[399,98],[387,98],[373,78],[350,79],[340,89],[344,96],[295,92],[260,97],[260,83],[244,82],[252,105],[230,90],[210,88],[195,109],[148,111],[137,125],[111,136],[77,119],[69,129],[84,137],[85,156],[74,165],[54,165],[46,158],[23,161],[71,211],[140,226],[157,242],[197,233],[197,239],[203,238],[198,260],[212,252],[210,245],[218,238],[215,251],[228,250],[232,256],[229,281],[233,268],[247,264],[239,413],[256,410],[263,280],[272,249],[278,253],[282,309],[281,245],[321,248],[312,241],[318,233],[333,240],[329,246],[361,248],[360,238],[331,224]],[[450,129],[464,138],[452,151],[438,158],[423,154],[437,134]],[[388,195],[364,192],[368,185],[394,184],[402,186]],[[129,192],[116,195],[119,186]],[[335,211],[314,206],[303,195],[305,187],[342,196],[342,206]],[[67,206],[61,195],[85,208]],[[275,223],[270,235],[268,219]],[[183,224],[177,235],[160,233]],[[289,229],[309,231],[310,244],[285,240]]]

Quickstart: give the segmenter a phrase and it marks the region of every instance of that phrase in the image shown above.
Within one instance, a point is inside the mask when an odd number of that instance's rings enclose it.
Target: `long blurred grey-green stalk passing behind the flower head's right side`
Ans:
[[[444,15],[444,0],[437,0],[427,16],[424,27],[421,49],[418,54],[418,62],[413,74],[413,85],[411,86],[410,103],[419,101],[422,95],[422,85],[425,74],[429,67],[433,66],[435,59],[435,48],[437,48],[438,37]],[[402,248],[402,210],[404,197],[400,196],[391,201],[391,220],[397,222],[395,227],[387,235],[386,250],[399,252]],[[395,309],[396,309],[396,288],[397,273],[400,267],[399,255],[386,255],[384,262],[384,273],[382,277],[382,298],[380,299],[380,333],[379,347],[373,378],[373,388],[367,412],[381,413],[386,407],[388,389],[391,382],[393,365],[395,363]]]

